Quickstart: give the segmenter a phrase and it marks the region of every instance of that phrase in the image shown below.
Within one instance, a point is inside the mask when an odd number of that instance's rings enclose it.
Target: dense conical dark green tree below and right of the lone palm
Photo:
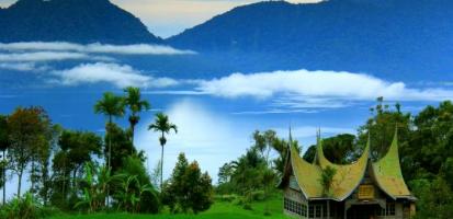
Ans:
[[[214,201],[212,180],[207,172],[202,174],[196,161],[189,164],[181,153],[171,178],[165,183],[162,201],[172,212],[207,210]]]

